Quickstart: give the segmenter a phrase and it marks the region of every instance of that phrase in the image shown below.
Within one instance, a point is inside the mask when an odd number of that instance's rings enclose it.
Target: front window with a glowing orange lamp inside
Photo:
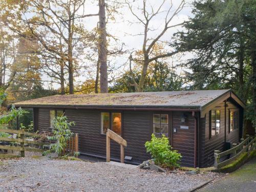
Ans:
[[[108,129],[118,135],[122,135],[122,115],[121,113],[101,113],[101,134],[106,134]],[[110,121],[111,119],[111,121]]]

